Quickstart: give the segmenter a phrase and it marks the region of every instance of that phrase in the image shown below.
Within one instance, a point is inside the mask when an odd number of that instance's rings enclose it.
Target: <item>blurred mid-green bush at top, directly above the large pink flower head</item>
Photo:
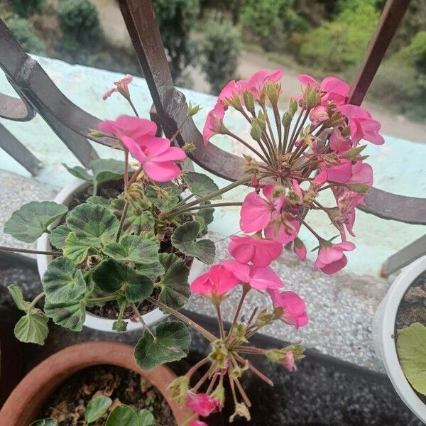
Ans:
[[[310,28],[295,11],[293,0],[246,0],[240,9],[245,31],[252,33],[267,52],[285,50],[290,33]]]

